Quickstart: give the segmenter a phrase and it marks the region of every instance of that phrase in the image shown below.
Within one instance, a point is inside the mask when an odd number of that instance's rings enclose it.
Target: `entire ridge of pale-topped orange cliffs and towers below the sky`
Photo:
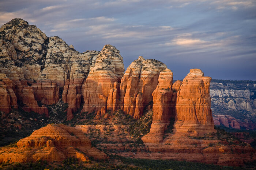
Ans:
[[[211,78],[199,69],[172,84],[173,73],[165,64],[142,56],[124,73],[120,51],[111,45],[100,52],[79,53],[22,19],[4,24],[0,32],[1,111],[8,113],[19,105],[49,116],[45,105],[62,99],[68,103],[67,120],[81,106],[82,112],[94,111],[97,117],[121,109],[139,119],[143,109],[153,104],[150,134],[159,133],[157,141],[162,140],[170,119],[175,119],[175,133],[215,132]]]

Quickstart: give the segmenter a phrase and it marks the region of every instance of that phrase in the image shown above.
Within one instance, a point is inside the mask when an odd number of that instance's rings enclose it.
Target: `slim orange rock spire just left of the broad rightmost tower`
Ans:
[[[172,110],[172,80],[173,73],[168,68],[160,72],[157,88],[153,92],[153,121],[150,133],[142,140],[145,143],[159,143],[163,140],[164,131],[170,123],[170,118],[174,118]]]

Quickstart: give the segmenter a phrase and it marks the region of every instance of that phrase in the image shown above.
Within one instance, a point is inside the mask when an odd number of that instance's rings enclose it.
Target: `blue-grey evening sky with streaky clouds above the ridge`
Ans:
[[[0,26],[14,18],[79,52],[120,50],[124,66],[157,59],[183,79],[256,80],[256,0],[0,0]]]

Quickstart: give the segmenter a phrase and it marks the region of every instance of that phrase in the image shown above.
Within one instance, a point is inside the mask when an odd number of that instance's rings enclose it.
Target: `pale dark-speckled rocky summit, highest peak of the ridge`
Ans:
[[[41,68],[31,68],[29,65],[44,64],[49,39],[45,33],[22,19],[13,19],[4,24],[0,32],[0,62],[5,66],[0,71],[10,78],[9,74],[14,74],[9,72],[11,65],[30,72],[25,75],[39,76],[37,71],[32,71]],[[19,75],[20,70],[13,71]]]

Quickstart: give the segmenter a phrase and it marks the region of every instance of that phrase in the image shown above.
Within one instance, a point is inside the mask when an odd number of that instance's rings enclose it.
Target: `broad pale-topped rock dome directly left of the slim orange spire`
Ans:
[[[120,85],[120,106],[135,119],[142,116],[143,108],[152,100],[158,76],[166,65],[158,60],[145,60],[142,56],[134,60],[125,71]]]

